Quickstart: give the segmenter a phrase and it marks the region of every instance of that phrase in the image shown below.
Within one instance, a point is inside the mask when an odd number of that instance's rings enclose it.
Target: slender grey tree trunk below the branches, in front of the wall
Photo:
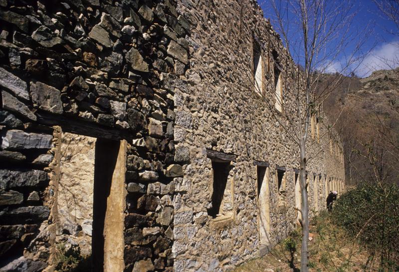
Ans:
[[[309,203],[308,191],[306,185],[306,140],[300,141],[300,184],[301,184],[301,198],[302,198],[302,248],[301,248],[301,271],[308,272],[308,239],[309,239]]]

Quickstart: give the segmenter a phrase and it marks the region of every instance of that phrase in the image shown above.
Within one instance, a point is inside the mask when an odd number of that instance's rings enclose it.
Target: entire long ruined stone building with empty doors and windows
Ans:
[[[59,270],[68,248],[93,271],[229,270],[295,228],[274,115],[296,69],[256,1],[0,0],[0,22],[1,271]],[[311,214],[345,180],[318,114]]]

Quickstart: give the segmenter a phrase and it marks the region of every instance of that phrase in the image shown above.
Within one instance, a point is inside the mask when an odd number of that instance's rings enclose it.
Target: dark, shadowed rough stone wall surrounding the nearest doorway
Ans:
[[[172,269],[189,28],[173,0],[0,1],[3,270],[55,265],[62,132],[127,140],[125,270]]]

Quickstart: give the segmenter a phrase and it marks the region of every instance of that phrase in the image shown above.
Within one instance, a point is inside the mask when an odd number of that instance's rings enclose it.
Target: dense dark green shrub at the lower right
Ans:
[[[399,269],[399,187],[363,184],[342,194],[332,220],[359,239],[383,270]]]

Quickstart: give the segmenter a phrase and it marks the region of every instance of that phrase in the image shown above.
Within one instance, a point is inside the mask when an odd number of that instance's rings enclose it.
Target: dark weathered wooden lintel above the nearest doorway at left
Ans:
[[[110,140],[122,139],[121,131],[107,128],[92,122],[67,118],[62,115],[45,112],[36,112],[36,115],[38,123],[48,126],[60,126],[64,132]]]

